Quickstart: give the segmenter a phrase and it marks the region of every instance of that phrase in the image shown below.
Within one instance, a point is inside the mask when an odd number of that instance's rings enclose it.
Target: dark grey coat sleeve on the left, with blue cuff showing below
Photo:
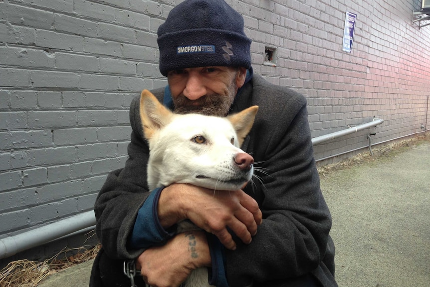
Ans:
[[[125,167],[107,176],[94,205],[96,234],[113,259],[133,259],[143,252],[127,249],[137,213],[150,195],[146,172],[149,147],[143,139],[138,109],[136,97],[130,105],[132,133]]]

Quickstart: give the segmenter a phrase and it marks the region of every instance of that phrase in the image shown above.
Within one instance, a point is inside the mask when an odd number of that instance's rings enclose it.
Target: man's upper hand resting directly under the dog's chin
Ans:
[[[257,225],[262,222],[257,202],[242,190],[214,191],[189,184],[172,184],[162,191],[158,216],[165,228],[190,219],[218,237],[230,250],[234,250],[236,244],[227,227],[249,244],[257,233]]]

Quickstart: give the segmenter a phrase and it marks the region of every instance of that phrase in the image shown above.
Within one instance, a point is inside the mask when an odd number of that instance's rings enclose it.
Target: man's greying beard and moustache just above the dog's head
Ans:
[[[190,100],[183,94],[173,99],[175,113],[198,113],[209,116],[224,117],[228,114],[235,96],[234,80],[227,90],[227,94],[206,94],[196,100]]]

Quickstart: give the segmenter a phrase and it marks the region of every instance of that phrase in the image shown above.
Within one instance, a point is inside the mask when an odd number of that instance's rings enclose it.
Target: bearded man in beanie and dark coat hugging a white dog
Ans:
[[[124,260],[141,271],[137,286],[177,287],[198,267],[219,287],[337,286],[304,97],[253,74],[243,18],[223,0],[177,5],[158,43],[169,85],[153,93],[166,106],[219,116],[259,106],[241,147],[252,154],[258,180],[229,193],[184,184],[149,191],[135,98],[129,159],[109,174],[95,204],[102,250],[90,286],[130,286]],[[177,234],[184,219],[202,231]]]

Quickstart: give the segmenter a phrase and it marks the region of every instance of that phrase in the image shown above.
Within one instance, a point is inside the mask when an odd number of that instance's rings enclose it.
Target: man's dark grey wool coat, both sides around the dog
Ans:
[[[164,89],[153,93],[162,101]],[[311,274],[324,287],[334,281],[331,216],[321,194],[313,158],[306,100],[297,92],[254,75],[236,96],[231,112],[258,105],[259,110],[242,149],[255,160],[262,183],[254,180],[245,192],[259,204],[263,223],[250,245],[235,240],[226,251],[226,276],[231,287],[289,286],[289,278]],[[148,145],[143,139],[139,97],[130,106],[133,128],[129,159],[109,174],[95,204],[96,233],[110,257],[134,259],[143,250],[127,249],[139,208],[148,197]]]

